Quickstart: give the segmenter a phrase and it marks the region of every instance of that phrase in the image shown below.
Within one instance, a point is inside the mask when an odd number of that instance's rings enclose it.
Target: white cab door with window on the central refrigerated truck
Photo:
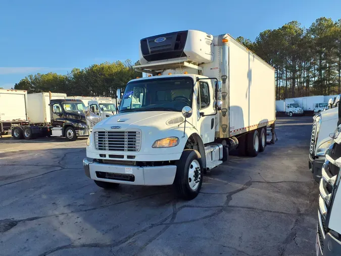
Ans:
[[[213,108],[213,89],[210,80],[199,80],[197,82],[197,130],[204,144],[213,142],[215,135],[215,113]],[[209,115],[209,116],[207,116]]]

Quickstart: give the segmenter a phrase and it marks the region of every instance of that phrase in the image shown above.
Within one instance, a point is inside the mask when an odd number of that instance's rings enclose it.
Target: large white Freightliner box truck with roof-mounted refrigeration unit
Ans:
[[[119,114],[94,126],[83,166],[103,188],[172,185],[196,197],[229,150],[257,156],[274,142],[274,70],[229,34],[186,30],[141,39]],[[121,92],[117,92],[120,96]]]

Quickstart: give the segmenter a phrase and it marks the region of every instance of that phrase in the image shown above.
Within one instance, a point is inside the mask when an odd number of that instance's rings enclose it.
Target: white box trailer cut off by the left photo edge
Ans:
[[[0,135],[27,123],[27,91],[0,89]]]

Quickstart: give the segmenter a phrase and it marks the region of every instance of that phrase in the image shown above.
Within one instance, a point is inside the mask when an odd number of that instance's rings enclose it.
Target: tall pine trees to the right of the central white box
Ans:
[[[237,40],[275,68],[277,100],[340,93],[341,19],[322,17],[309,28],[291,21]]]

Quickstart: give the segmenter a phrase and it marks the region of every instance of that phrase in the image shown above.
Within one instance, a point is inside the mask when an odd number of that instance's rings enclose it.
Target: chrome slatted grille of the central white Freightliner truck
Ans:
[[[136,152],[141,147],[141,133],[125,132],[94,132],[95,149],[110,151]]]

